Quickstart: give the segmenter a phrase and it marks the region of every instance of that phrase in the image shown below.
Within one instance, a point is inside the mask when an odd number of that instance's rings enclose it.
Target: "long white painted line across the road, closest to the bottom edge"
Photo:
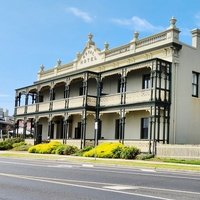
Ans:
[[[65,186],[71,186],[71,187],[79,187],[79,188],[85,188],[85,189],[100,190],[100,191],[106,191],[106,192],[126,194],[126,195],[130,195],[130,196],[140,196],[140,197],[146,197],[146,198],[151,198],[151,199],[174,200],[174,199],[145,195],[145,194],[137,194],[137,193],[131,193],[131,192],[111,190],[111,189],[106,189],[106,188],[99,188],[99,187],[92,187],[92,186],[86,186],[86,185],[78,185],[78,184],[72,184],[72,183],[58,182],[58,181],[55,181],[53,179],[52,180],[46,180],[46,179],[41,179],[41,177],[34,177],[34,176],[23,176],[23,175],[6,174],[6,173],[0,173],[0,176],[13,177],[13,178],[19,178],[19,179],[25,179],[25,180],[31,180],[31,181],[58,184],[58,185],[65,185]]]

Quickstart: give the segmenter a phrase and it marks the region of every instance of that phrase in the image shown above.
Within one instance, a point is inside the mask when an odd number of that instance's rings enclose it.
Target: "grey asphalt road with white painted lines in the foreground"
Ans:
[[[0,158],[0,200],[200,200],[200,174]]]

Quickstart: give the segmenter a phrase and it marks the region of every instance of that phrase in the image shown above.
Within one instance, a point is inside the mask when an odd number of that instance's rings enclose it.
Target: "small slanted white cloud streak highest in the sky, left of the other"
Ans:
[[[91,23],[93,21],[92,17],[87,13],[79,8],[69,7],[67,11],[72,13],[74,16],[81,18],[86,23]]]

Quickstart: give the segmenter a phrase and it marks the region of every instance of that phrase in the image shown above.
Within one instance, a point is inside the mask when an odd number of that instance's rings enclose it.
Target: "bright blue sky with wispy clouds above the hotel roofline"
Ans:
[[[37,80],[39,66],[72,61],[88,33],[100,49],[160,32],[177,19],[180,38],[191,44],[200,28],[199,0],[0,0],[0,108],[14,112],[15,89]]]

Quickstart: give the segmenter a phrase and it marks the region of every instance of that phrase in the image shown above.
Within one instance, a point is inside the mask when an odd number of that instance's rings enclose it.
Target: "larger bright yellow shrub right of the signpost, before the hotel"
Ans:
[[[118,147],[123,147],[124,145],[121,143],[103,143],[98,145],[97,147],[87,151],[83,154],[85,157],[98,157],[98,158],[113,158],[115,153],[115,149]]]

